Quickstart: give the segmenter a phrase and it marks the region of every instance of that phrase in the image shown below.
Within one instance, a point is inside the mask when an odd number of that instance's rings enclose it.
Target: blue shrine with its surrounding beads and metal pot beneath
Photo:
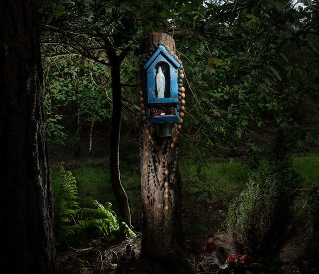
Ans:
[[[145,86],[140,91],[142,119],[155,125],[159,137],[171,136],[173,123],[181,124],[185,103],[182,63],[167,46],[156,45],[149,54],[140,55]]]

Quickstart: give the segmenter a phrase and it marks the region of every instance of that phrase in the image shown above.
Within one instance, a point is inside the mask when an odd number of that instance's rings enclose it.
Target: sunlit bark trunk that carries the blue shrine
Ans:
[[[164,43],[175,52],[175,43],[171,36],[154,33],[143,41],[141,54],[150,52],[156,45]],[[146,79],[141,79],[144,89]],[[150,133],[154,144],[150,141]],[[173,133],[174,134],[174,133]],[[172,136],[174,137],[174,136]],[[144,129],[141,195],[143,206],[142,256],[163,263],[174,273],[192,273],[183,251],[181,231],[181,180],[177,164],[174,165],[178,146],[170,150],[172,137],[156,137],[154,126]],[[170,151],[172,159],[163,162],[163,156]],[[152,160],[153,158],[153,160]],[[155,165],[155,172],[152,168]],[[169,175],[165,174],[168,170]],[[169,178],[175,173],[172,182]],[[156,179],[159,180],[157,186]],[[165,199],[165,182],[169,182],[168,199]],[[166,197],[166,198],[167,198]]]

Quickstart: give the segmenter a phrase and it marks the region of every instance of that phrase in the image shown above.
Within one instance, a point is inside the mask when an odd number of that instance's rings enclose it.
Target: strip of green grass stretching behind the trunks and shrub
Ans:
[[[205,160],[205,161],[204,161]],[[293,165],[304,180],[305,187],[311,183],[319,183],[319,152],[305,155],[295,155]],[[56,180],[58,163],[51,166],[52,181]],[[81,207],[91,207],[92,200],[101,204],[111,202],[118,213],[118,205],[112,192],[109,166],[106,159],[81,159],[64,163],[66,170],[72,172],[77,181]],[[216,201],[218,199],[238,195],[246,186],[250,171],[247,171],[237,159],[214,159],[198,157],[180,158],[180,173],[183,185],[183,207],[198,207],[198,214],[207,214],[200,210],[199,203]],[[141,218],[141,174],[140,158],[124,159],[121,162],[121,180],[128,195],[132,216]],[[203,216],[202,216],[203,217]],[[203,219],[205,219],[203,217]],[[202,234],[210,225],[196,224],[194,215],[187,216],[184,229],[187,235]],[[212,223],[212,222],[210,222]],[[207,228],[205,227],[207,226]]]

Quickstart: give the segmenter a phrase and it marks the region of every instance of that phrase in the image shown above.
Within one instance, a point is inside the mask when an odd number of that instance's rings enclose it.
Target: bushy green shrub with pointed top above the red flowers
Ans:
[[[280,133],[266,171],[251,179],[229,207],[226,224],[238,249],[255,258],[274,258],[292,232],[292,206],[301,180],[292,168]]]

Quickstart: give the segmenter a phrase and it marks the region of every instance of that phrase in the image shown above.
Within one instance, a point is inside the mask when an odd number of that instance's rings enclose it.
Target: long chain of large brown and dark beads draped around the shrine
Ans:
[[[181,124],[183,123],[183,117],[184,117],[184,110],[185,110],[185,88],[183,87],[183,78],[184,78],[184,70],[183,70],[183,66],[182,66],[182,62],[178,59],[177,55],[174,55],[174,52],[172,50],[169,49],[168,46],[165,46],[163,43],[161,43],[161,45],[163,45],[165,47],[165,49],[167,50],[167,52],[173,56],[173,58],[180,64],[180,67],[178,68],[178,105],[180,105],[179,108],[177,108],[177,111],[179,112],[179,123],[177,124],[177,126],[175,125],[175,134],[174,137],[172,137],[171,139],[171,143],[169,144],[169,141],[167,143],[167,147],[166,147],[166,154],[171,154],[171,151],[175,148],[175,157],[174,157],[174,162],[172,165],[172,172],[171,174],[169,174],[169,170],[168,170],[168,162],[165,162],[165,167],[164,167],[164,176],[166,176],[166,180],[163,184],[160,184],[160,180],[159,177],[157,175],[156,172],[156,168],[155,168],[155,155],[154,155],[154,147],[156,145],[156,142],[153,138],[152,135],[152,131],[154,130],[154,128],[149,127],[147,125],[146,122],[146,109],[145,109],[145,103],[147,103],[147,94],[146,92],[144,92],[143,90],[140,90],[139,94],[140,94],[140,103],[141,103],[141,115],[142,115],[142,123],[143,123],[143,128],[146,132],[146,134],[148,135],[148,147],[149,147],[149,153],[150,153],[150,168],[151,168],[151,172],[152,175],[154,177],[154,181],[155,181],[155,185],[156,187],[161,190],[164,191],[164,198],[167,201],[169,198],[169,184],[172,184],[175,180],[175,176],[176,176],[176,168],[177,168],[177,159],[178,159],[178,136],[180,134],[180,130],[181,130]],[[155,45],[155,47],[153,47],[153,49],[149,52],[149,54],[146,56],[145,59],[142,60],[142,66],[145,65],[145,63],[148,61],[148,59],[151,58],[151,56],[153,55],[153,53],[156,51],[156,49],[158,48],[159,45]],[[156,110],[153,110],[154,113],[153,114],[158,114],[156,112]],[[140,136],[140,142],[141,142],[141,147],[140,147],[140,157],[143,157],[143,134],[141,134]],[[141,165],[142,166],[142,165]],[[165,178],[165,177],[164,177]],[[163,187],[164,188],[163,188]],[[166,204],[165,208],[166,211],[169,210],[168,205]]]

